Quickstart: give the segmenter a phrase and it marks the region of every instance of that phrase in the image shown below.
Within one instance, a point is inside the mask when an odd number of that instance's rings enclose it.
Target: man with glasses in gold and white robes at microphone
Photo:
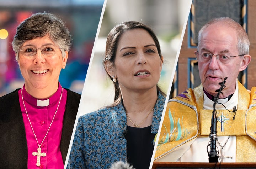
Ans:
[[[249,45],[230,18],[201,28],[195,52],[201,85],[169,100],[155,161],[212,162],[216,155],[215,162],[256,162],[256,137],[247,133],[255,128],[246,118],[250,93],[237,79],[251,61]]]

